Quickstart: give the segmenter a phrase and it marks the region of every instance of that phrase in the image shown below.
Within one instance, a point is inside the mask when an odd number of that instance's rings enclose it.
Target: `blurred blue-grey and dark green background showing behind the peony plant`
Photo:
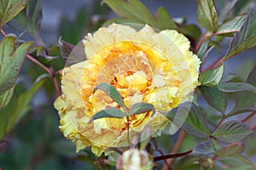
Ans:
[[[196,23],[196,0],[142,0],[154,14],[157,8],[164,7],[172,18],[185,20],[187,23]],[[226,1],[216,1],[217,8],[223,8]],[[45,46],[53,48],[50,53],[60,56],[58,48],[60,37],[69,43],[77,44],[88,32],[96,31],[115,14],[99,0],[44,0],[42,1],[42,22],[39,35]],[[32,40],[29,33],[23,32],[24,27],[15,20],[3,29],[22,35]],[[204,33],[204,30],[201,29]],[[210,53],[209,61],[225,54],[229,48],[230,38],[221,42],[220,50],[214,49]],[[256,63],[256,49],[253,48],[239,54],[225,63],[224,74],[236,73],[245,79]],[[62,59],[53,63],[56,70],[64,66]],[[20,73],[18,82],[20,91],[29,87],[32,82],[44,71],[37,65],[31,65],[26,60]],[[44,82],[44,89],[39,90],[32,99],[32,110],[26,115],[17,127],[10,133],[0,147],[0,169],[3,170],[45,170],[45,169],[96,169],[91,160],[96,157],[90,149],[75,153],[74,145],[65,139],[58,130],[59,118],[53,107],[56,98],[52,82]],[[11,118],[11,117],[10,117]],[[187,143],[182,150],[189,150],[198,144],[193,137],[187,137]],[[168,153],[174,143],[176,135],[164,136],[160,139],[161,148]],[[253,144],[248,140],[248,144]],[[256,149],[252,150],[255,153]]]

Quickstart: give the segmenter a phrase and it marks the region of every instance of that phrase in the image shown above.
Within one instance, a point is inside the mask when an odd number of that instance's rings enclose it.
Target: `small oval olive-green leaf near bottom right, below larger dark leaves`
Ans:
[[[224,146],[220,150],[217,150],[216,155],[218,156],[233,156],[241,154],[245,149],[245,145],[241,143],[233,143],[227,146]]]

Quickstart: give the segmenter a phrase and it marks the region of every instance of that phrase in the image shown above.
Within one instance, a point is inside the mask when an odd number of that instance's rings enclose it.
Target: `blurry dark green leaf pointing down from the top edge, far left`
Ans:
[[[18,14],[15,19],[25,26],[27,31],[31,31],[34,36],[38,37],[42,15],[42,1],[33,0],[28,1],[25,10]]]

